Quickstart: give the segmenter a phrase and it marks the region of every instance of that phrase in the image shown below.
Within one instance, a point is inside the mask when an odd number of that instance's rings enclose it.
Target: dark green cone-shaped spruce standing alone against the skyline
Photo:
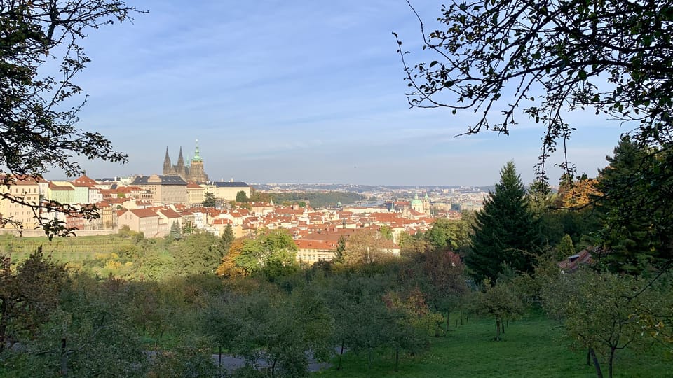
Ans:
[[[488,278],[495,283],[504,265],[515,272],[532,271],[533,251],[541,238],[513,162],[501,169],[495,193],[489,193],[484,209],[477,213],[474,231],[473,251],[465,257],[465,265],[477,282]]]

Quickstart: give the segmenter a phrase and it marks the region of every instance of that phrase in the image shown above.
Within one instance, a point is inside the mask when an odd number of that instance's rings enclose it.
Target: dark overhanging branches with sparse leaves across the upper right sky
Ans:
[[[434,59],[407,64],[400,46],[409,104],[479,113],[467,134],[508,134],[522,115],[545,125],[543,177],[571,137],[566,111],[592,109],[633,125],[640,144],[671,144],[673,1],[450,1],[437,29],[419,21]]]

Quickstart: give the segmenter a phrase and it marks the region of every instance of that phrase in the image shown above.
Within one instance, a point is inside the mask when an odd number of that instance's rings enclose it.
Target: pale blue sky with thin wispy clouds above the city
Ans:
[[[211,179],[251,183],[490,185],[514,160],[533,180],[543,130],[509,137],[465,131],[474,113],[409,109],[395,31],[420,61],[403,0],[142,1],[148,14],[90,31],[80,127],[128,153],[126,165],[84,161],[93,177],[161,174],[196,139]],[[440,1],[416,1],[425,20]],[[580,172],[605,165],[614,121],[569,116]],[[560,162],[561,156],[552,157]],[[49,176],[53,176],[53,172]],[[552,183],[560,172],[550,170]]]

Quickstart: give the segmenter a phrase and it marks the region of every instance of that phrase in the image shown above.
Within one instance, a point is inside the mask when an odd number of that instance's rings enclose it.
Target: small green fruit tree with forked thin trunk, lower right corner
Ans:
[[[541,276],[542,302],[551,316],[564,324],[573,341],[589,351],[598,377],[603,372],[599,356],[606,358],[613,377],[617,351],[642,351],[651,346],[647,316],[653,323],[669,323],[671,285],[627,274],[579,269],[573,274]],[[652,318],[650,318],[652,319]],[[654,336],[654,335],[653,335]],[[656,337],[656,336],[654,336]],[[625,353],[625,352],[620,352]]]

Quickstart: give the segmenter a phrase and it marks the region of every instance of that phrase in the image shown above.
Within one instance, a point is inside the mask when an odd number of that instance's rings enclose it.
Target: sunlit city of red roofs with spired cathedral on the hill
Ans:
[[[246,183],[209,181],[198,144],[191,159],[179,148],[177,164],[169,148],[162,174],[92,179],[86,174],[72,181],[36,181],[16,177],[4,193],[20,197],[27,204],[58,202],[72,206],[95,204],[100,218],[84,219],[78,214],[56,210],[34,213],[34,209],[3,197],[0,217],[13,222],[3,232],[25,237],[43,236],[38,228],[43,219],[57,219],[74,235],[105,235],[128,228],[146,237],[165,237],[172,229],[182,232],[210,232],[222,235],[231,227],[233,235],[254,235],[260,229],[283,228],[292,234],[297,258],[305,262],[329,260],[340,237],[359,229],[392,233],[393,253],[403,232],[414,235],[432,227],[437,218],[458,219],[465,211],[482,209],[489,187],[470,186],[365,186],[339,183]],[[355,202],[313,207],[310,200],[256,200],[263,193],[357,193]],[[346,199],[346,195],[343,199]],[[18,230],[18,228],[23,230]]]

